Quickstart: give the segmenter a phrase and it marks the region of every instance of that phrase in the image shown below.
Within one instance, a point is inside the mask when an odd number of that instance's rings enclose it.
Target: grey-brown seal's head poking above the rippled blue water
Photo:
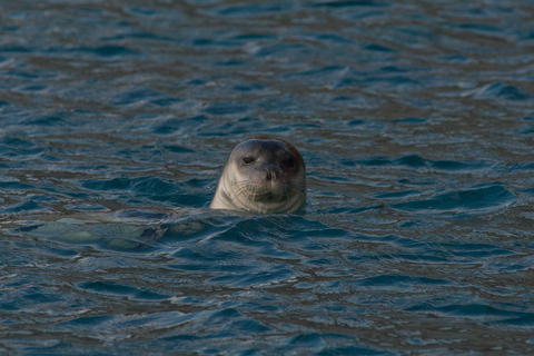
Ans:
[[[255,138],[230,152],[209,207],[276,214],[305,205],[306,166],[300,152],[280,139]]]

